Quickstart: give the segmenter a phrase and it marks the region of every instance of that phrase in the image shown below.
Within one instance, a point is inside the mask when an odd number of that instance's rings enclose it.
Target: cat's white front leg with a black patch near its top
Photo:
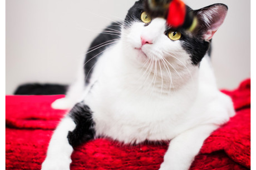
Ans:
[[[90,108],[77,103],[53,133],[42,169],[70,169],[73,147],[95,137],[94,125]]]

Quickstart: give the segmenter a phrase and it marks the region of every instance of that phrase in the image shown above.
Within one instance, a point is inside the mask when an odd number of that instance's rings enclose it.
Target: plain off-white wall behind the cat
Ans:
[[[21,83],[71,83],[92,39],[111,20],[124,19],[134,0],[6,1],[6,93]],[[250,77],[250,1],[186,0],[197,9],[225,3],[228,16],[213,38],[219,88]]]

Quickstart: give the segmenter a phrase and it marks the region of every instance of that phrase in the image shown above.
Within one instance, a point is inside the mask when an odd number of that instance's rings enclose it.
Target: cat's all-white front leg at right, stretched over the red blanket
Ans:
[[[189,169],[204,140],[218,127],[214,124],[205,124],[189,129],[172,139],[160,170]]]

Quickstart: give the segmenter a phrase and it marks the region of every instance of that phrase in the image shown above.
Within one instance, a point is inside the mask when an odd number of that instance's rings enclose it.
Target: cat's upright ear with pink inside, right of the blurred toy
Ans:
[[[210,41],[214,33],[219,29],[228,13],[228,7],[222,3],[216,3],[195,11],[199,22],[203,24],[203,38]]]

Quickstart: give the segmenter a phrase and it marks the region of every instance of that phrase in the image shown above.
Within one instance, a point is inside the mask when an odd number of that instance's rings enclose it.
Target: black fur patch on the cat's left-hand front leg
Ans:
[[[68,114],[76,123],[76,128],[68,132],[68,143],[72,147],[90,141],[95,137],[95,122],[92,119],[91,109],[83,102],[77,103]]]

